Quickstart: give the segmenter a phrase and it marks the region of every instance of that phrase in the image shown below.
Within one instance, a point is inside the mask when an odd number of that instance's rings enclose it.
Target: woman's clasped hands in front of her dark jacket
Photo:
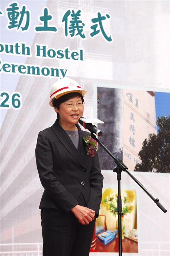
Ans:
[[[79,204],[74,206],[71,211],[82,225],[88,225],[90,221],[93,221],[95,216],[95,211]]]

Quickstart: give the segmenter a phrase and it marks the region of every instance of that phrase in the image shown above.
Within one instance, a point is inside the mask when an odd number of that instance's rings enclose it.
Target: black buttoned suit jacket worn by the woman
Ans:
[[[69,212],[78,204],[82,193],[88,208],[100,209],[103,175],[98,154],[87,155],[83,136],[79,132],[78,149],[58,120],[38,135],[35,156],[40,181],[45,188],[39,208],[55,208]]]

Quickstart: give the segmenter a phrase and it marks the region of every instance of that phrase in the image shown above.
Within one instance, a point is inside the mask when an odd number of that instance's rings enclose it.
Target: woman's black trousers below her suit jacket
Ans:
[[[81,204],[82,205],[82,204]],[[41,210],[43,256],[88,256],[95,219],[82,225],[72,211]]]

